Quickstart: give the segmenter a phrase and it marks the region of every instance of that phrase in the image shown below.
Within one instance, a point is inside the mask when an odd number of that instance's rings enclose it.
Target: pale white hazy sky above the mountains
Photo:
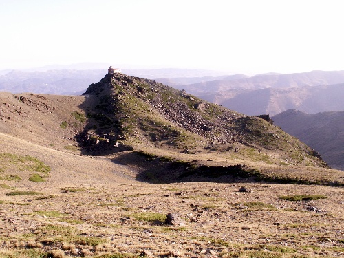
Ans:
[[[0,69],[104,62],[244,74],[344,70],[342,5],[0,0]]]

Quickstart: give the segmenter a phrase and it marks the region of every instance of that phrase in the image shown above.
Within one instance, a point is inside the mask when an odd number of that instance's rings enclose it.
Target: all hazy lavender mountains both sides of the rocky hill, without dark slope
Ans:
[[[41,72],[2,71],[0,91],[78,95],[107,73],[107,67],[88,70],[80,69],[80,65],[73,67],[78,69],[44,70],[58,68],[50,66],[41,67]],[[82,67],[94,65],[86,63]],[[251,77],[200,69],[122,69],[122,72],[184,89],[248,115],[273,116],[288,109],[309,114],[344,110],[344,71],[269,73]]]

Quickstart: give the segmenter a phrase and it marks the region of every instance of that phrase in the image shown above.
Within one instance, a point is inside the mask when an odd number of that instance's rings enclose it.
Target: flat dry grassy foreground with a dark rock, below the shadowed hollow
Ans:
[[[251,191],[239,192],[240,186]],[[1,257],[101,257],[142,250],[155,257],[344,255],[344,193],[336,187],[89,184],[6,195],[14,191],[0,188]],[[290,201],[283,195],[326,199]],[[178,213],[185,225],[164,224],[167,213]]]

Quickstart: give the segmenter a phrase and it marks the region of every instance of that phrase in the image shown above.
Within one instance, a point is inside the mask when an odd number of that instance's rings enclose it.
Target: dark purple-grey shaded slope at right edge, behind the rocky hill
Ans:
[[[344,170],[344,111],[311,115],[288,110],[272,119],[284,131],[319,151],[330,166]]]

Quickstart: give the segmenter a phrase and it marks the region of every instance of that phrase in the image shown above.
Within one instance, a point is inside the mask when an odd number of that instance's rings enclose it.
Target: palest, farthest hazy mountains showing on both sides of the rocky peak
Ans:
[[[26,69],[2,70],[0,71],[0,91],[19,93],[33,92],[41,94],[61,94],[61,95],[80,95],[85,92],[87,87],[107,74],[107,65],[102,69],[87,69],[91,67],[100,67],[99,64],[82,65],[50,65],[39,67],[32,71]],[[69,69],[66,69],[69,68]],[[72,69],[71,69],[72,68]],[[85,69],[83,69],[85,68]],[[175,78],[179,83],[195,83],[204,80],[213,80],[221,76],[223,72],[200,70],[200,69],[122,69],[124,74],[138,76],[142,78]],[[200,79],[200,76],[208,76]],[[192,78],[195,78],[192,80]],[[222,78],[217,77],[217,79]],[[168,79],[166,79],[168,80]]]

